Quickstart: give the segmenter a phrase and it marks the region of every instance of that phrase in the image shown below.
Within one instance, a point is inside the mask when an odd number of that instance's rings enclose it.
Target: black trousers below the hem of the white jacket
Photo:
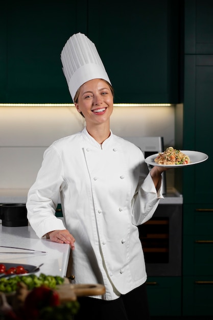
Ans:
[[[146,284],[122,294],[119,299],[105,301],[79,297],[80,310],[75,320],[149,320]]]

